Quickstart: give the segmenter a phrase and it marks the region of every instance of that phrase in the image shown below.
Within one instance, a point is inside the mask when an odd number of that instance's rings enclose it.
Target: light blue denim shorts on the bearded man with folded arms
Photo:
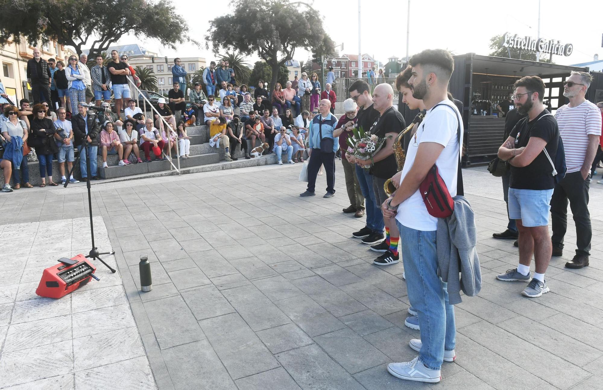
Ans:
[[[553,190],[509,188],[509,218],[522,220],[527,228],[547,226]]]

